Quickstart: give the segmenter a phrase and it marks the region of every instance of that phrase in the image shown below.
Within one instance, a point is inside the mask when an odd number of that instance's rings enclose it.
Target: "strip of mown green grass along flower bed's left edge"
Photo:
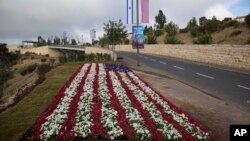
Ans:
[[[16,141],[52,102],[55,94],[81,63],[67,63],[50,71],[41,85],[14,107],[0,114],[0,141]]]

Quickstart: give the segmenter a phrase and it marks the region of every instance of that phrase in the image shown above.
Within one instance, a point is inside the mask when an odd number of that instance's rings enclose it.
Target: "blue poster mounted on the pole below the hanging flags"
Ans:
[[[133,49],[143,49],[144,48],[144,29],[143,26],[133,26]]]

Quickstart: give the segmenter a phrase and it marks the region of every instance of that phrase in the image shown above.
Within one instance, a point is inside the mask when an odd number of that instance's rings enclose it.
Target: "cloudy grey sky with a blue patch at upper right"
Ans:
[[[135,0],[134,0],[135,1]],[[150,23],[161,9],[167,22],[181,28],[192,18],[218,19],[237,17],[250,12],[249,0],[149,0]],[[103,23],[126,19],[126,0],[0,0],[0,42],[21,43],[41,35],[62,36],[89,41],[90,30],[103,35]],[[127,26],[131,32],[131,26]]]

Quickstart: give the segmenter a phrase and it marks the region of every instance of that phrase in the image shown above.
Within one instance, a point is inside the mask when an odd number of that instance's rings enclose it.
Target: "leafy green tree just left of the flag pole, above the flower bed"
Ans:
[[[122,21],[109,21],[104,23],[104,32],[109,44],[116,45],[122,43],[127,38],[127,30]]]

